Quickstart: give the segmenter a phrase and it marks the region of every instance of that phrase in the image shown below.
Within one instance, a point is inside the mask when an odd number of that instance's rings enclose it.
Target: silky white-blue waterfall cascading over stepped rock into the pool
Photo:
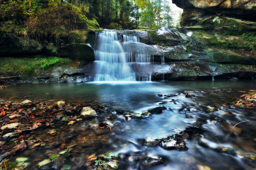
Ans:
[[[98,32],[92,81],[151,81],[147,68],[154,58],[148,47],[137,36],[116,30]]]

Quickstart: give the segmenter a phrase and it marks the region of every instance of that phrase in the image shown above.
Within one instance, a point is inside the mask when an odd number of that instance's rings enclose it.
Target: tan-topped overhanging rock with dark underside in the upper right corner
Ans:
[[[190,24],[186,20],[189,18],[188,15],[209,17],[218,14],[243,20],[256,20],[255,0],[173,0],[172,2],[184,9],[182,25]]]

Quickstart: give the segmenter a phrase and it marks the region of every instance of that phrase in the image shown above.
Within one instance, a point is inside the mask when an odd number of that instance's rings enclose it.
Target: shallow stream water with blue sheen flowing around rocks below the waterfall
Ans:
[[[57,137],[49,138],[48,142],[65,140],[67,145],[77,144],[71,151],[71,158],[67,164],[75,166],[84,161],[86,155],[103,154],[105,152],[142,152],[161,155],[164,164],[144,169],[200,169],[209,167],[215,169],[253,169],[255,160],[247,159],[256,155],[256,124],[246,122],[231,130],[234,124],[243,120],[256,121],[256,110],[237,109],[229,107],[234,101],[248,90],[255,89],[253,81],[171,81],[148,82],[133,84],[26,84],[8,87],[1,90],[1,98],[13,101],[30,99],[64,100],[67,103],[90,102],[103,104],[112,110],[97,119],[77,123],[68,128],[60,125],[56,129],[60,132]],[[184,91],[195,94],[195,98],[185,98]],[[159,97],[157,94],[176,94],[175,97]],[[167,109],[162,114],[154,114],[148,119],[129,119],[125,121],[122,115],[116,115],[115,110],[125,109],[133,112],[145,112],[148,108],[159,106],[160,102]],[[103,136],[93,136],[100,142],[88,147],[81,144],[81,136],[85,134],[90,124],[106,119],[111,114],[117,118],[111,122],[113,130]],[[167,137],[182,131],[187,126],[201,125],[205,132],[202,137],[187,140],[187,151],[164,150],[161,147],[145,147],[138,144],[138,139],[154,140]],[[36,132],[36,137],[45,135],[47,129]],[[77,134],[72,139],[67,137]],[[103,142],[102,142],[103,141]],[[47,146],[46,140],[46,146]],[[217,152],[218,147],[234,148],[237,156]],[[52,150],[52,148],[48,148]],[[33,157],[45,157],[47,147],[31,153],[23,152],[31,162]],[[30,155],[30,156],[29,156]],[[21,156],[21,155],[19,155]],[[127,165],[128,166],[128,165]],[[136,167],[137,168],[137,167]],[[141,168],[143,169],[143,168]]]

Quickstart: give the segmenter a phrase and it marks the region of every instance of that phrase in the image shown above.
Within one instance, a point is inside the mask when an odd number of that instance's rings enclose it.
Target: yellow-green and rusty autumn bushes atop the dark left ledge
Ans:
[[[12,21],[1,30],[24,31],[31,36],[67,36],[78,20],[87,20],[81,8],[61,0],[5,0],[0,5],[0,20]]]

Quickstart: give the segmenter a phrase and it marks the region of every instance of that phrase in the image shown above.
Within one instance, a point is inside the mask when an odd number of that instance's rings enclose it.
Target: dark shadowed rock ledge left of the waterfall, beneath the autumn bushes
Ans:
[[[70,40],[60,38],[58,41],[36,40],[26,35],[14,33],[0,33],[0,56],[19,56],[24,54],[42,54],[47,56],[60,56],[83,59],[90,62],[94,60],[94,51],[87,44],[88,31],[74,31]]]

